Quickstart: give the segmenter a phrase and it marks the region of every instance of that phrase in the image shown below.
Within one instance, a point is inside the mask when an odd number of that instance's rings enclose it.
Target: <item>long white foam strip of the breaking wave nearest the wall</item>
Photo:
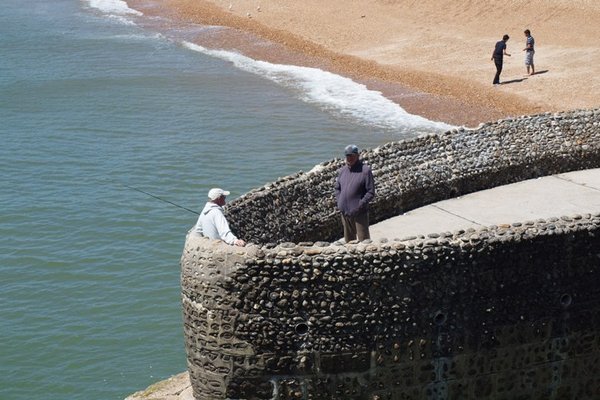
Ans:
[[[211,50],[190,42],[184,42],[184,45],[290,88],[297,93],[298,98],[307,103],[316,104],[334,114],[349,116],[367,125],[426,131],[446,131],[452,128],[442,122],[409,114],[381,92],[369,90],[363,84],[331,72],[253,60],[235,52]]]

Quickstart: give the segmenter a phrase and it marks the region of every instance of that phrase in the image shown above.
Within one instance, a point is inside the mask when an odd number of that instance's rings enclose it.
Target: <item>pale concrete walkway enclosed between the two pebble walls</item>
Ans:
[[[371,239],[403,239],[539,218],[600,212],[600,168],[530,179],[430,204],[370,228]]]

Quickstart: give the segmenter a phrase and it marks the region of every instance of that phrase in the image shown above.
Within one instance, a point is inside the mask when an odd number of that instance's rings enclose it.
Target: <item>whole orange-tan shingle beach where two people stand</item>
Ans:
[[[128,0],[172,23],[229,27],[193,41],[329,70],[408,112],[474,127],[499,118],[600,106],[597,0]],[[533,76],[524,29],[536,41]],[[492,85],[491,53],[510,35]]]

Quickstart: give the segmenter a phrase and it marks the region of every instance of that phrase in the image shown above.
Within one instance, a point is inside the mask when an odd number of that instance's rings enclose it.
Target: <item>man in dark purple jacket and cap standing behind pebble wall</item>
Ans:
[[[358,147],[344,149],[346,165],[335,180],[335,198],[342,214],[346,242],[369,239],[369,202],[375,197],[375,180],[371,168],[359,159]]]

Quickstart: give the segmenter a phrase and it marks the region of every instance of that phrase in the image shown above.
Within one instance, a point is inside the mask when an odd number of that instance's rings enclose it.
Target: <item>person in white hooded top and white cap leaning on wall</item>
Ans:
[[[220,188],[210,189],[208,191],[208,201],[193,230],[202,236],[220,239],[230,245],[245,246],[246,242],[238,239],[231,232],[229,223],[223,214],[222,207],[225,205],[225,197],[229,194],[229,191]]]

